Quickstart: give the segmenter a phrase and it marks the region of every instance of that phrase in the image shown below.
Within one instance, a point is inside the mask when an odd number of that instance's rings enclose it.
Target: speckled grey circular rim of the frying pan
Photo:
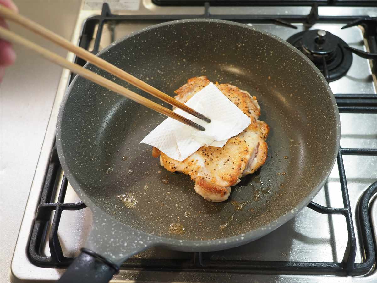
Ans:
[[[187,251],[187,250],[190,250],[190,251],[216,251],[216,250],[223,250],[223,249],[233,248],[233,247],[236,247],[236,246],[241,246],[241,245],[249,243],[253,240],[256,240],[258,238],[263,237],[264,235],[266,235],[266,234],[272,232],[273,230],[277,229],[279,226],[283,225],[287,221],[291,220],[303,208],[305,208],[305,206],[307,206],[310,203],[310,201],[317,195],[317,193],[320,191],[320,189],[325,184],[325,182],[328,179],[328,176],[329,176],[329,174],[330,174],[330,172],[331,172],[331,170],[332,170],[332,168],[335,164],[335,161],[337,159],[337,155],[338,155],[339,148],[340,148],[340,115],[339,115],[339,109],[337,108],[335,97],[334,97],[333,92],[331,91],[331,89],[328,85],[328,82],[325,80],[322,73],[317,69],[317,67],[314,65],[313,62],[311,62],[298,49],[296,49],[294,46],[292,46],[290,43],[286,42],[282,38],[277,37],[276,35],[273,35],[269,32],[266,32],[266,31],[257,29],[253,26],[248,26],[248,25],[245,25],[245,24],[242,24],[242,23],[236,23],[236,22],[231,22],[231,21],[226,21],[226,20],[205,19],[205,18],[204,19],[203,18],[193,18],[193,19],[175,20],[175,21],[170,21],[170,22],[159,23],[159,24],[156,24],[156,25],[149,26],[147,28],[143,28],[139,31],[133,32],[129,35],[126,35],[123,38],[116,40],[115,42],[113,42],[112,44],[110,44],[109,46],[107,46],[106,48],[101,50],[100,52],[98,52],[97,56],[100,56],[104,52],[109,51],[113,46],[117,45],[118,43],[123,42],[124,40],[126,40],[128,38],[132,38],[134,36],[137,36],[138,34],[140,34],[142,32],[149,31],[151,29],[159,28],[159,27],[162,27],[162,26],[169,26],[169,25],[175,25],[175,24],[181,24],[181,23],[187,23],[187,22],[188,23],[190,23],[190,22],[224,23],[224,24],[228,24],[228,25],[233,25],[233,26],[235,25],[235,26],[239,26],[239,27],[242,27],[242,28],[251,29],[251,30],[259,32],[261,34],[268,35],[269,37],[274,38],[275,40],[279,41],[280,43],[283,43],[285,46],[287,46],[287,48],[290,48],[291,51],[295,52],[298,56],[303,58],[311,66],[313,71],[316,72],[317,75],[319,75],[320,82],[323,83],[324,86],[326,86],[328,96],[329,96],[329,98],[332,102],[332,106],[333,106],[333,109],[334,109],[334,116],[335,116],[336,124],[339,125],[339,126],[336,127],[337,128],[336,129],[336,145],[334,146],[333,152],[332,152],[333,162],[331,164],[331,167],[329,166],[328,171],[326,172],[326,175],[323,177],[323,180],[315,188],[313,188],[311,190],[310,194],[308,194],[302,201],[300,201],[300,203],[298,203],[291,211],[288,211],[284,215],[280,216],[279,218],[272,221],[271,223],[268,223],[265,226],[261,226],[261,227],[255,229],[255,230],[249,231],[245,234],[239,234],[239,235],[228,237],[228,238],[218,238],[216,240],[183,240],[183,239],[179,240],[179,239],[176,239],[176,238],[161,237],[161,236],[156,236],[156,235],[153,235],[153,234],[149,234],[149,233],[140,231],[138,229],[133,228],[132,226],[128,226],[128,225],[116,220],[110,214],[107,214],[105,211],[103,211],[103,209],[101,209],[100,207],[95,205],[95,203],[93,203],[92,200],[90,200],[90,198],[87,197],[87,195],[81,189],[81,186],[79,185],[79,183],[75,179],[74,175],[69,174],[70,169],[69,169],[69,166],[67,165],[67,163],[65,161],[65,156],[64,156],[64,153],[63,153],[63,149],[62,149],[63,145],[62,145],[62,141],[61,141],[61,138],[60,138],[61,137],[61,135],[60,135],[61,122],[62,122],[62,116],[63,116],[63,112],[64,112],[64,108],[65,108],[67,99],[69,97],[71,89],[75,85],[75,82],[78,78],[78,75],[76,75],[74,80],[72,80],[72,82],[70,83],[70,85],[69,85],[69,87],[66,91],[66,94],[64,95],[63,100],[62,100],[61,105],[60,105],[60,109],[59,109],[59,113],[58,113],[58,119],[57,119],[57,126],[56,126],[56,145],[57,145],[57,151],[58,151],[58,156],[59,156],[59,160],[60,160],[60,163],[61,163],[61,167],[62,167],[63,171],[66,173],[67,179],[69,180],[70,184],[72,185],[72,188],[74,188],[75,192],[79,195],[81,200],[83,200],[84,203],[91,209],[91,211],[93,212],[93,217],[104,214],[104,215],[110,217],[110,219],[112,221],[114,221],[116,224],[121,225],[122,227],[126,227],[129,231],[137,231],[138,234],[141,237],[144,236],[144,237],[148,237],[148,238],[154,238],[155,240],[150,241],[149,246],[167,246],[167,247],[173,248],[175,250],[185,250],[185,251]],[[92,64],[86,63],[84,65],[84,68],[87,68],[89,65],[92,65]]]

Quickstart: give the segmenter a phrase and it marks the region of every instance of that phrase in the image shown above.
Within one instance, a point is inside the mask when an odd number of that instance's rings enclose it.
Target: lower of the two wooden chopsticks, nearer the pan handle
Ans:
[[[200,131],[205,131],[205,128],[202,127],[201,125],[198,125],[197,123],[194,123],[191,120],[181,115],[176,114],[172,110],[167,109],[164,106],[161,106],[139,94],[136,94],[135,92],[130,91],[129,89],[126,89],[123,86],[120,86],[108,80],[107,78],[104,78],[92,71],[89,71],[88,69],[85,69],[81,67],[80,65],[69,62],[68,60],[55,54],[54,52],[51,52],[23,37],[20,37],[19,35],[15,34],[14,32],[9,31],[6,28],[0,27],[0,37],[10,42],[23,45],[26,48],[29,48],[37,52],[38,54],[40,54],[42,57],[46,58],[47,60],[54,62],[64,68],[67,68],[70,71],[80,75],[81,77],[84,77],[87,80],[90,80],[94,83],[97,83],[100,86],[103,86],[104,88],[108,88],[118,94],[121,94],[129,99],[132,99],[133,101],[140,103],[141,105],[147,106],[150,109],[153,109],[161,114],[171,117],[179,122],[185,123],[186,125],[192,126]]]

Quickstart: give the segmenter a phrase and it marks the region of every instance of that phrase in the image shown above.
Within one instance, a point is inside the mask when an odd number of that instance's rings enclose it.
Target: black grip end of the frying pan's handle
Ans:
[[[103,256],[82,248],[81,254],[72,262],[58,280],[59,283],[107,283],[119,266]]]

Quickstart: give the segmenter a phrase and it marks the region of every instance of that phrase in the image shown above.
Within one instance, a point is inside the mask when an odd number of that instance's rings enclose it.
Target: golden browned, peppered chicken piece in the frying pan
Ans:
[[[196,92],[207,86],[207,77],[190,78],[175,91],[175,99],[187,102]],[[239,183],[240,178],[255,172],[267,158],[268,125],[258,121],[261,108],[255,96],[230,84],[216,83],[218,89],[251,118],[251,124],[240,134],[230,138],[222,148],[202,146],[183,161],[168,157],[153,148],[153,156],[160,153],[160,163],[168,171],[183,172],[195,181],[195,191],[210,201],[224,201],[231,192],[230,186]]]

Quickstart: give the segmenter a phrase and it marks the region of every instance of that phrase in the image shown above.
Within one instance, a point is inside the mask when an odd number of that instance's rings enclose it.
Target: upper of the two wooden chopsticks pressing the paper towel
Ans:
[[[35,32],[36,34],[39,34],[43,36],[44,38],[51,40],[52,42],[56,43],[57,45],[60,45],[64,49],[67,49],[74,54],[76,54],[78,57],[83,58],[84,60],[92,63],[93,65],[96,65],[100,67],[101,69],[104,69],[105,71],[109,72],[110,74],[115,75],[116,77],[119,77],[123,80],[125,80],[127,83],[130,83],[131,85],[136,86],[139,89],[142,89],[143,91],[148,92],[149,94],[152,94],[155,97],[158,97],[159,99],[163,100],[164,102],[169,103],[170,105],[173,105],[179,109],[182,109],[183,111],[190,113],[191,115],[198,117],[205,122],[210,123],[211,120],[204,115],[200,114],[199,112],[196,112],[194,109],[190,108],[187,105],[184,105],[182,102],[179,102],[178,100],[174,99],[173,97],[167,95],[166,93],[159,91],[158,89],[154,88],[151,85],[148,85],[146,82],[143,82],[142,80],[139,80],[138,78],[134,77],[133,75],[123,71],[122,69],[112,65],[111,63],[101,59],[100,57],[97,57],[96,55],[93,55],[89,51],[85,50],[84,48],[81,48],[80,46],[73,45],[65,38],[61,37],[58,34],[55,34],[55,32],[52,32],[43,26],[39,25],[38,23],[33,22],[32,20],[29,20],[26,17],[23,17],[22,15],[18,14],[17,12],[12,11],[11,9],[6,8],[5,6],[1,6],[0,9],[0,15],[4,18],[7,18],[9,20],[12,20],[25,28]]]

